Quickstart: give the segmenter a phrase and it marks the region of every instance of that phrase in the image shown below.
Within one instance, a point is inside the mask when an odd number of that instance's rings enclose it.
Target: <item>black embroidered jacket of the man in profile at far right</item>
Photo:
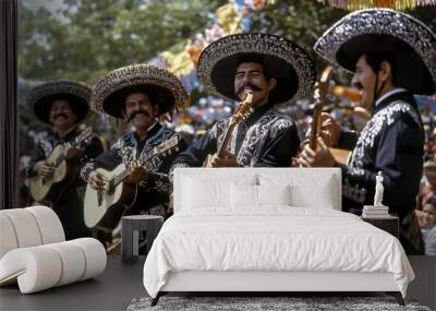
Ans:
[[[424,131],[413,95],[395,89],[378,100],[362,133],[346,132],[339,147],[354,146],[342,168],[342,208],[372,205],[383,171],[383,204],[401,218],[415,206],[423,170]]]

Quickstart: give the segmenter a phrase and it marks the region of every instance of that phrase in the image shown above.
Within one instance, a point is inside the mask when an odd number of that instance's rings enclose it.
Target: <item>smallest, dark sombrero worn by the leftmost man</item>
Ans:
[[[89,97],[90,88],[85,84],[70,80],[58,80],[35,86],[28,94],[26,101],[39,120],[50,123],[51,104],[57,99],[65,99],[77,115],[75,122],[78,123],[85,119],[89,111]]]

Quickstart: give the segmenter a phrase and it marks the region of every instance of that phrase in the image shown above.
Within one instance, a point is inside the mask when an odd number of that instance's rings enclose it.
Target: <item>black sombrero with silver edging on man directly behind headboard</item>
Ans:
[[[244,58],[262,59],[264,70],[277,80],[270,104],[304,96],[314,86],[315,67],[307,52],[286,38],[267,34],[230,35],[214,41],[199,56],[199,81],[209,92],[239,100],[233,80]]]

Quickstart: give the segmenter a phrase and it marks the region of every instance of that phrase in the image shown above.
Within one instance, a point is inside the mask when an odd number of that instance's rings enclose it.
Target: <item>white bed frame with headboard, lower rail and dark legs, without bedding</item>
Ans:
[[[201,171],[202,170],[202,171]],[[289,174],[289,168],[182,168],[174,172],[174,213],[182,207],[180,202],[183,196],[183,178],[196,176],[198,172],[207,174],[214,178],[231,179],[232,174],[246,171],[253,174]],[[334,184],[334,208],[341,211],[341,171],[339,168],[293,168],[295,178],[302,176],[331,176]],[[359,272],[271,272],[271,271],[183,271],[171,272],[167,283],[157,297],[152,300],[156,306],[159,298],[168,294],[225,294],[233,296],[240,292],[250,296],[289,296],[289,294],[311,292],[332,294],[343,296],[355,292],[360,296],[374,296],[371,292],[385,292],[393,296],[400,306],[404,301],[391,273],[359,273]],[[366,295],[367,294],[367,295]],[[352,295],[348,295],[352,296]],[[379,296],[379,295],[378,295]]]

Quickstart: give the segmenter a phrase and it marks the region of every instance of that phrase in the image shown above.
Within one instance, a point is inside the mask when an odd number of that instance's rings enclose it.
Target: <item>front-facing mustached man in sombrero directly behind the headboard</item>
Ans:
[[[315,70],[308,55],[282,37],[230,35],[206,47],[197,73],[214,94],[245,104],[251,93],[252,112],[233,128],[231,136],[227,135],[231,119],[215,123],[179,155],[172,169],[202,166],[227,141],[223,152],[213,157],[213,167],[289,167],[300,139],[295,122],[277,105],[313,87]]]

